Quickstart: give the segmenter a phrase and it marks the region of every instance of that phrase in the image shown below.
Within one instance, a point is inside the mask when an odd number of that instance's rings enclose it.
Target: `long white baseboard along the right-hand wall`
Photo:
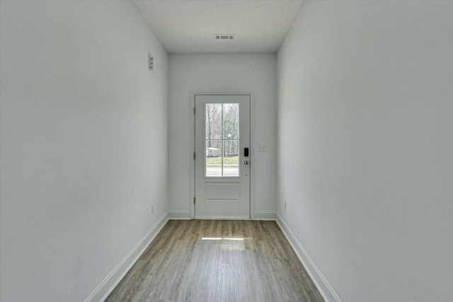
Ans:
[[[328,281],[326,280],[326,278],[324,278],[323,274],[321,274],[318,267],[316,267],[316,265],[314,264],[313,260],[311,260],[311,257],[306,252],[294,233],[291,231],[291,228],[289,228],[287,223],[282,219],[282,216],[280,216],[278,213],[277,223],[278,226],[280,226],[280,228],[282,229],[283,234],[289,241],[289,244],[292,246],[294,252],[296,252],[297,257],[299,257],[299,260],[302,262],[302,265],[304,265],[306,272],[309,273],[311,280],[313,280],[316,288],[319,290],[324,300],[326,300],[326,302],[341,302],[340,297],[333,290],[332,286],[328,284]]]

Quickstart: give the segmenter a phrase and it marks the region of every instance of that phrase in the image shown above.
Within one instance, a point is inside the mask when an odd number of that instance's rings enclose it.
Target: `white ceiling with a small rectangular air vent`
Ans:
[[[303,0],[134,0],[170,53],[277,52]],[[232,34],[234,40],[216,40]]]

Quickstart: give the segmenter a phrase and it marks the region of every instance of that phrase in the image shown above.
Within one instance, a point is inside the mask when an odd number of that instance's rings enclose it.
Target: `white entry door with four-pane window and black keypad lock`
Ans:
[[[195,95],[195,219],[250,218],[250,95]]]

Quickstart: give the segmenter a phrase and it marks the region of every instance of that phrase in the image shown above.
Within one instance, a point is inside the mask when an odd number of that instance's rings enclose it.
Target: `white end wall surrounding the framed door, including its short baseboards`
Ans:
[[[256,216],[275,211],[275,54],[170,54],[169,207],[170,216],[188,218],[190,202],[190,93],[253,92],[256,152]],[[252,129],[253,129],[252,126]],[[255,150],[253,150],[253,148]],[[252,152],[257,146],[253,146]]]

